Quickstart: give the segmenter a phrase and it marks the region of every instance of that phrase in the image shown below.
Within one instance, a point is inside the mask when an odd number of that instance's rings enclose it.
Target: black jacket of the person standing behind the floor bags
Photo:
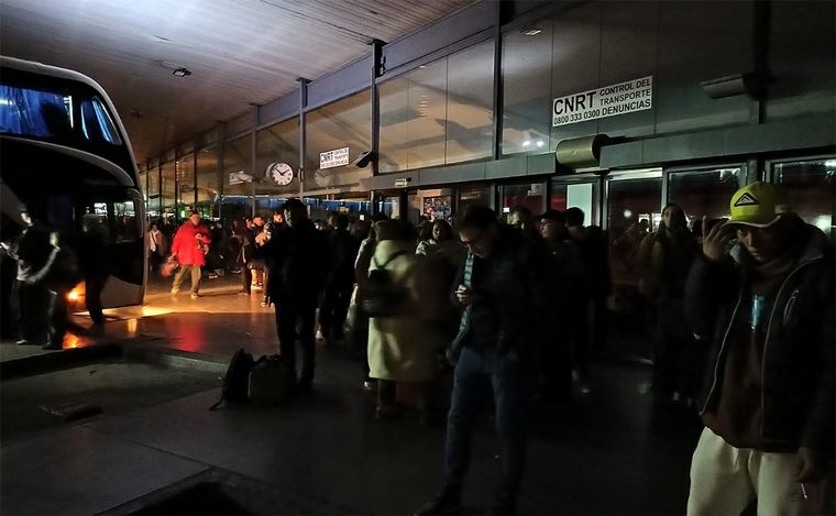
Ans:
[[[255,259],[270,268],[267,293],[278,308],[283,303],[317,306],[331,263],[327,239],[309,219],[283,226]]]

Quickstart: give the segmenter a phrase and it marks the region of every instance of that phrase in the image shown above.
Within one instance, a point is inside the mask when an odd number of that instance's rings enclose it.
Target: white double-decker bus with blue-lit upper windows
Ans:
[[[103,307],[142,304],[147,267],[136,163],[96,81],[0,56],[0,182],[3,241],[22,229],[23,206],[35,223],[69,242],[95,227],[103,235],[109,275]],[[84,309],[84,284],[70,292],[70,308]]]

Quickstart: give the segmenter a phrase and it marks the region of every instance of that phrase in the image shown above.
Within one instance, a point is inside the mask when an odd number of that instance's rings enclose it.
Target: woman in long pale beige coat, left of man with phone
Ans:
[[[426,256],[415,254],[415,234],[405,222],[378,222],[377,248],[369,268],[385,268],[395,285],[404,288],[398,314],[369,320],[370,376],[377,378],[377,419],[397,416],[396,383],[420,384],[418,407],[421,421],[431,417],[432,386],[438,373],[438,353],[444,342],[439,321],[449,304],[441,274],[432,271]]]

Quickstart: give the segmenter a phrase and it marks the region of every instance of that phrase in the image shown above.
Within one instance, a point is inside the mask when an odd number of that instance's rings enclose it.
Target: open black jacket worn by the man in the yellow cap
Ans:
[[[825,235],[799,221],[804,251],[781,281],[767,320],[761,369],[761,442],[765,451],[834,449],[834,263]],[[723,387],[732,325],[747,285],[746,250],[738,244],[721,263],[700,254],[685,285],[685,311],[708,343],[700,411],[713,413]]]

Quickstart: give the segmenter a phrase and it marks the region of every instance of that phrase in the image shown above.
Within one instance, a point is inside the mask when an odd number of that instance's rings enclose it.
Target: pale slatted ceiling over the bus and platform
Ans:
[[[144,162],[475,2],[0,0],[0,53],[101,84]]]

